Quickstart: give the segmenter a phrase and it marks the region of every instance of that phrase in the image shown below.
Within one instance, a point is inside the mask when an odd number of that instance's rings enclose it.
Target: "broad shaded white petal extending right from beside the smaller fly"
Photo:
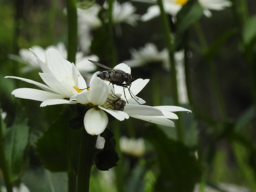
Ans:
[[[124,107],[124,112],[131,115],[143,115],[143,116],[162,116],[161,110],[156,109],[147,105],[133,105],[126,104]]]

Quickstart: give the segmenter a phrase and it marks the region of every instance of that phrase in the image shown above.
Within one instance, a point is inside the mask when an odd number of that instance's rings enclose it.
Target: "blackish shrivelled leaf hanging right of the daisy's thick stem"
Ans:
[[[113,138],[113,133],[109,131],[109,129],[105,129],[105,131],[101,133],[101,137],[105,139],[105,144],[103,149],[97,151],[95,165],[99,170],[106,171],[117,166],[119,158],[114,149],[116,140]]]

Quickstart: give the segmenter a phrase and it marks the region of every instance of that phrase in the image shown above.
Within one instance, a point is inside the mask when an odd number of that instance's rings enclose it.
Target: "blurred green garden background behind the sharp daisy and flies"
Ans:
[[[167,14],[171,51],[161,16],[143,19],[154,1],[114,1],[110,24],[105,1],[76,3],[81,58],[109,67],[126,63],[134,79],[150,79],[138,95],[146,105],[192,110],[177,113],[176,128],[132,118],[111,121],[118,167],[105,172],[93,167],[90,191],[256,191],[256,2],[226,1],[222,10],[211,10],[208,1],[189,0],[179,4],[179,12]],[[61,145],[68,138],[68,131],[61,131],[69,129],[70,106],[40,108],[38,101],[15,98],[12,90],[34,86],[4,79],[42,82],[39,67],[25,53],[33,46],[41,47],[35,49],[42,54],[55,46],[67,57],[66,2],[0,0],[0,7],[1,139],[12,167],[11,182],[31,192],[69,191],[68,178],[74,172],[61,164],[66,158]],[[89,70],[83,61],[79,66],[89,83],[102,69]],[[75,144],[79,149],[79,142]],[[1,169],[0,181],[4,186]]]

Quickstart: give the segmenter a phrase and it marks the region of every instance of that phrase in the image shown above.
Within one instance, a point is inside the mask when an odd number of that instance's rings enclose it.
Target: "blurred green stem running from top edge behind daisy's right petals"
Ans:
[[[158,0],[158,6],[161,11],[161,20],[162,20],[162,25],[163,25],[163,30],[165,33],[165,39],[167,42],[167,47],[169,50],[169,56],[170,56],[170,63],[171,63],[171,68],[172,68],[172,75],[171,75],[171,82],[172,82],[172,87],[173,87],[173,99],[174,99],[174,104],[179,105],[179,100],[178,100],[178,87],[177,87],[177,77],[176,77],[176,62],[174,59],[174,46],[171,38],[171,31],[170,31],[170,25],[167,20],[167,16],[163,7],[163,1]],[[178,115],[180,113],[177,113]],[[184,133],[183,133],[183,128],[182,128],[182,121],[181,121],[181,116],[177,120],[177,136],[180,141],[184,140]]]

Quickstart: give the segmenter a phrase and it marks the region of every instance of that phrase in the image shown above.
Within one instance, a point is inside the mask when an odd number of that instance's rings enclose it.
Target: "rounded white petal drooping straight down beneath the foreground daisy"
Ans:
[[[91,108],[84,116],[84,127],[88,134],[99,135],[108,125],[108,116],[101,109]]]

